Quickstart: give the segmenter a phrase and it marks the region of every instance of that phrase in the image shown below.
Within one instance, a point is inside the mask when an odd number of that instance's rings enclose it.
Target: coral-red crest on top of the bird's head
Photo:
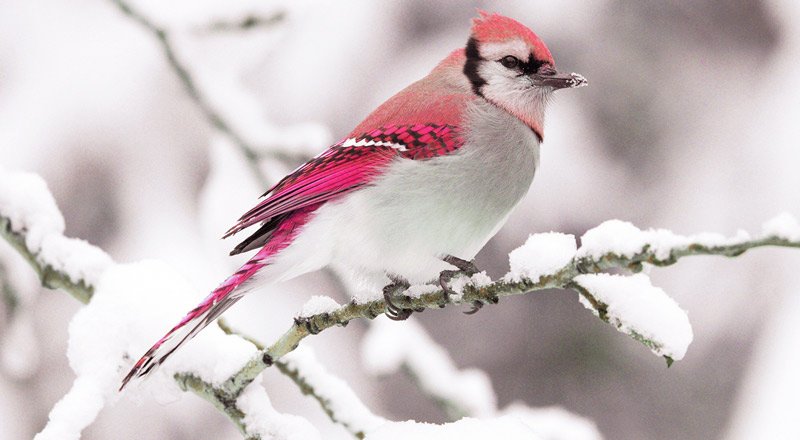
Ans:
[[[528,45],[537,60],[553,64],[553,55],[541,38],[522,23],[496,13],[478,10],[472,19],[472,37],[479,43],[501,43],[514,38]]]

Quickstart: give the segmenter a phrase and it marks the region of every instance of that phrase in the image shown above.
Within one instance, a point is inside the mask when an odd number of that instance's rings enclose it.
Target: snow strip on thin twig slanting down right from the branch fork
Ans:
[[[310,347],[298,347],[281,360],[327,401],[336,420],[351,432],[367,431],[386,423],[386,419],[364,405],[347,382],[327,372]]]

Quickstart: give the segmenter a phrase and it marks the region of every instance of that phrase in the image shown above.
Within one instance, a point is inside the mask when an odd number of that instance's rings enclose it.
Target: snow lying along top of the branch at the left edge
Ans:
[[[111,257],[84,240],[66,238],[64,217],[41,177],[0,170],[0,215],[11,229],[25,234],[25,245],[44,266],[66,273],[77,283],[95,284]]]

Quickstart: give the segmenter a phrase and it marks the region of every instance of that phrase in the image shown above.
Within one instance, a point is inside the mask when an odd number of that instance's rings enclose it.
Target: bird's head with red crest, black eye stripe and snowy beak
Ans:
[[[472,22],[464,74],[476,94],[522,120],[541,140],[551,93],[584,86],[586,79],[558,72],[544,42],[516,20],[479,14]]]

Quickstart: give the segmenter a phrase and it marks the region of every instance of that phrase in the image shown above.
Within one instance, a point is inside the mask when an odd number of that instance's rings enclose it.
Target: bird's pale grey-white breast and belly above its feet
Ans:
[[[332,265],[376,289],[387,273],[422,283],[452,268],[444,255],[473,258],[525,195],[538,162],[530,129],[485,110],[492,114],[480,120],[492,130],[457,153],[398,159],[371,186],[323,205],[265,275],[286,279]]]

